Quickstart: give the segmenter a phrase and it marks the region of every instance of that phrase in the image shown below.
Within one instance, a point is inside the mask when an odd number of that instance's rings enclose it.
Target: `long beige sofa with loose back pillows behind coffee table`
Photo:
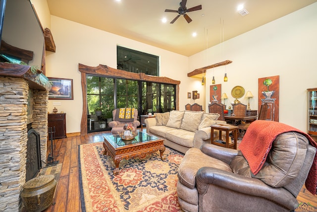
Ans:
[[[211,125],[226,124],[217,120],[219,114],[196,111],[173,110],[155,113],[155,118],[145,120],[147,133],[164,139],[164,145],[185,153],[191,147],[200,148],[211,142]],[[214,139],[219,138],[219,131],[214,131]]]

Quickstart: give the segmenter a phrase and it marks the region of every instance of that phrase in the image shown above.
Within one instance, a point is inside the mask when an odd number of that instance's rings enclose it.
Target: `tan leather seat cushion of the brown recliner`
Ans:
[[[199,148],[190,148],[178,167],[179,181],[188,188],[194,189],[196,173],[204,166],[232,172],[227,163],[204,154]]]

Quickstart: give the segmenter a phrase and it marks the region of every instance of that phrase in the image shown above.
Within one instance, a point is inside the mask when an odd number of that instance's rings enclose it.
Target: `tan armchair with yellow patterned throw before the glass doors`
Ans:
[[[140,126],[138,121],[138,110],[134,108],[118,108],[112,111],[113,121],[109,123],[112,134],[118,134],[124,131],[123,127],[126,124],[132,124],[133,130]]]

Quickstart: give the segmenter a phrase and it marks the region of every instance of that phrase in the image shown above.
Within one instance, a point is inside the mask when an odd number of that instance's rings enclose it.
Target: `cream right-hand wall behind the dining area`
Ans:
[[[223,82],[224,67],[214,69],[216,84],[221,83],[222,93],[229,97],[226,104],[234,100],[231,89],[240,85],[253,93],[251,109],[257,109],[258,78],[279,75],[279,122],[307,132],[306,89],[317,87],[316,11],[317,3],[311,4],[224,42],[222,53],[219,45],[208,50],[209,65],[232,61],[226,67],[228,82]],[[189,69],[206,66],[204,57],[206,51],[189,57]],[[206,104],[211,79],[212,70],[208,70]],[[239,100],[248,103],[244,97]]]

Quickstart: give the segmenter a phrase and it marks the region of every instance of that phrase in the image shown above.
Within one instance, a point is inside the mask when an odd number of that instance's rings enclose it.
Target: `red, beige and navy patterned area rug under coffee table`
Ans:
[[[144,159],[121,160],[119,174],[103,142],[79,146],[82,212],[179,212],[177,169],[184,154],[166,147]]]

